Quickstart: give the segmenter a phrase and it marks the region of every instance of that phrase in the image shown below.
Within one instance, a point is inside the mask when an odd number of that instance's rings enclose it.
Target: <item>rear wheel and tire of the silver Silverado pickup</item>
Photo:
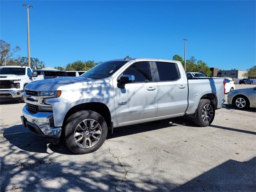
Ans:
[[[208,99],[201,99],[196,110],[196,118],[193,121],[200,127],[206,127],[212,123],[214,116],[215,107],[213,103]]]

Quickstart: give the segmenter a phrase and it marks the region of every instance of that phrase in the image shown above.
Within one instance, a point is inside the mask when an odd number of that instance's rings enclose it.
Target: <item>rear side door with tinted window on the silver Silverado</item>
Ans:
[[[181,76],[178,65],[172,62],[154,62],[157,72],[157,117],[184,113],[188,106],[186,76]]]

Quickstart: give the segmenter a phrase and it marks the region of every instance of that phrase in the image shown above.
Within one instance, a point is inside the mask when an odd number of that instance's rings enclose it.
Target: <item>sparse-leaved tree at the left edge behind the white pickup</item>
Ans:
[[[8,60],[13,56],[13,54],[20,50],[19,46],[16,46],[11,50],[11,45],[6,43],[4,40],[0,39],[0,66],[3,66],[4,60],[6,60],[6,65]],[[12,60],[13,62],[13,60]]]

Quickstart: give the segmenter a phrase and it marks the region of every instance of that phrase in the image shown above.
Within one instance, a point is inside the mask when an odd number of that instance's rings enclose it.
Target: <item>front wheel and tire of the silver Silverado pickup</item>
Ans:
[[[79,111],[66,121],[64,143],[73,153],[91,153],[102,146],[107,132],[106,121],[100,114],[91,110]]]

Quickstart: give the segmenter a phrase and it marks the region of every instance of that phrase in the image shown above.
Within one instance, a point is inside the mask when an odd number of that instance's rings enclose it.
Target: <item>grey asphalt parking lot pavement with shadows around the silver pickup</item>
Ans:
[[[202,128],[185,117],[116,128],[74,155],[24,128],[24,105],[0,105],[1,191],[256,191],[255,108],[225,104]]]

